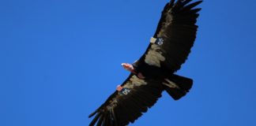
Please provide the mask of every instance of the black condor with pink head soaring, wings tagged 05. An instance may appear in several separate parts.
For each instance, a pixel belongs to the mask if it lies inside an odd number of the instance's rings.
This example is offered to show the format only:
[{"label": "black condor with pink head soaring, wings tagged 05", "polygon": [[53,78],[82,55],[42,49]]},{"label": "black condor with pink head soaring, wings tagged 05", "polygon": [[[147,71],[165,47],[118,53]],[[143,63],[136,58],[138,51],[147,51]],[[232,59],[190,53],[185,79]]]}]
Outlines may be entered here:
[{"label": "black condor with pink head soaring, wings tagged 05", "polygon": [[202,1],[171,0],[162,11],[156,33],[149,46],[132,65],[122,66],[130,76],[116,88],[96,111],[89,124],[93,126],[123,126],[134,123],[152,107],[163,91],[175,100],[182,98],[192,87],[193,80],[175,75],[190,54],[198,26],[198,6]]}]

